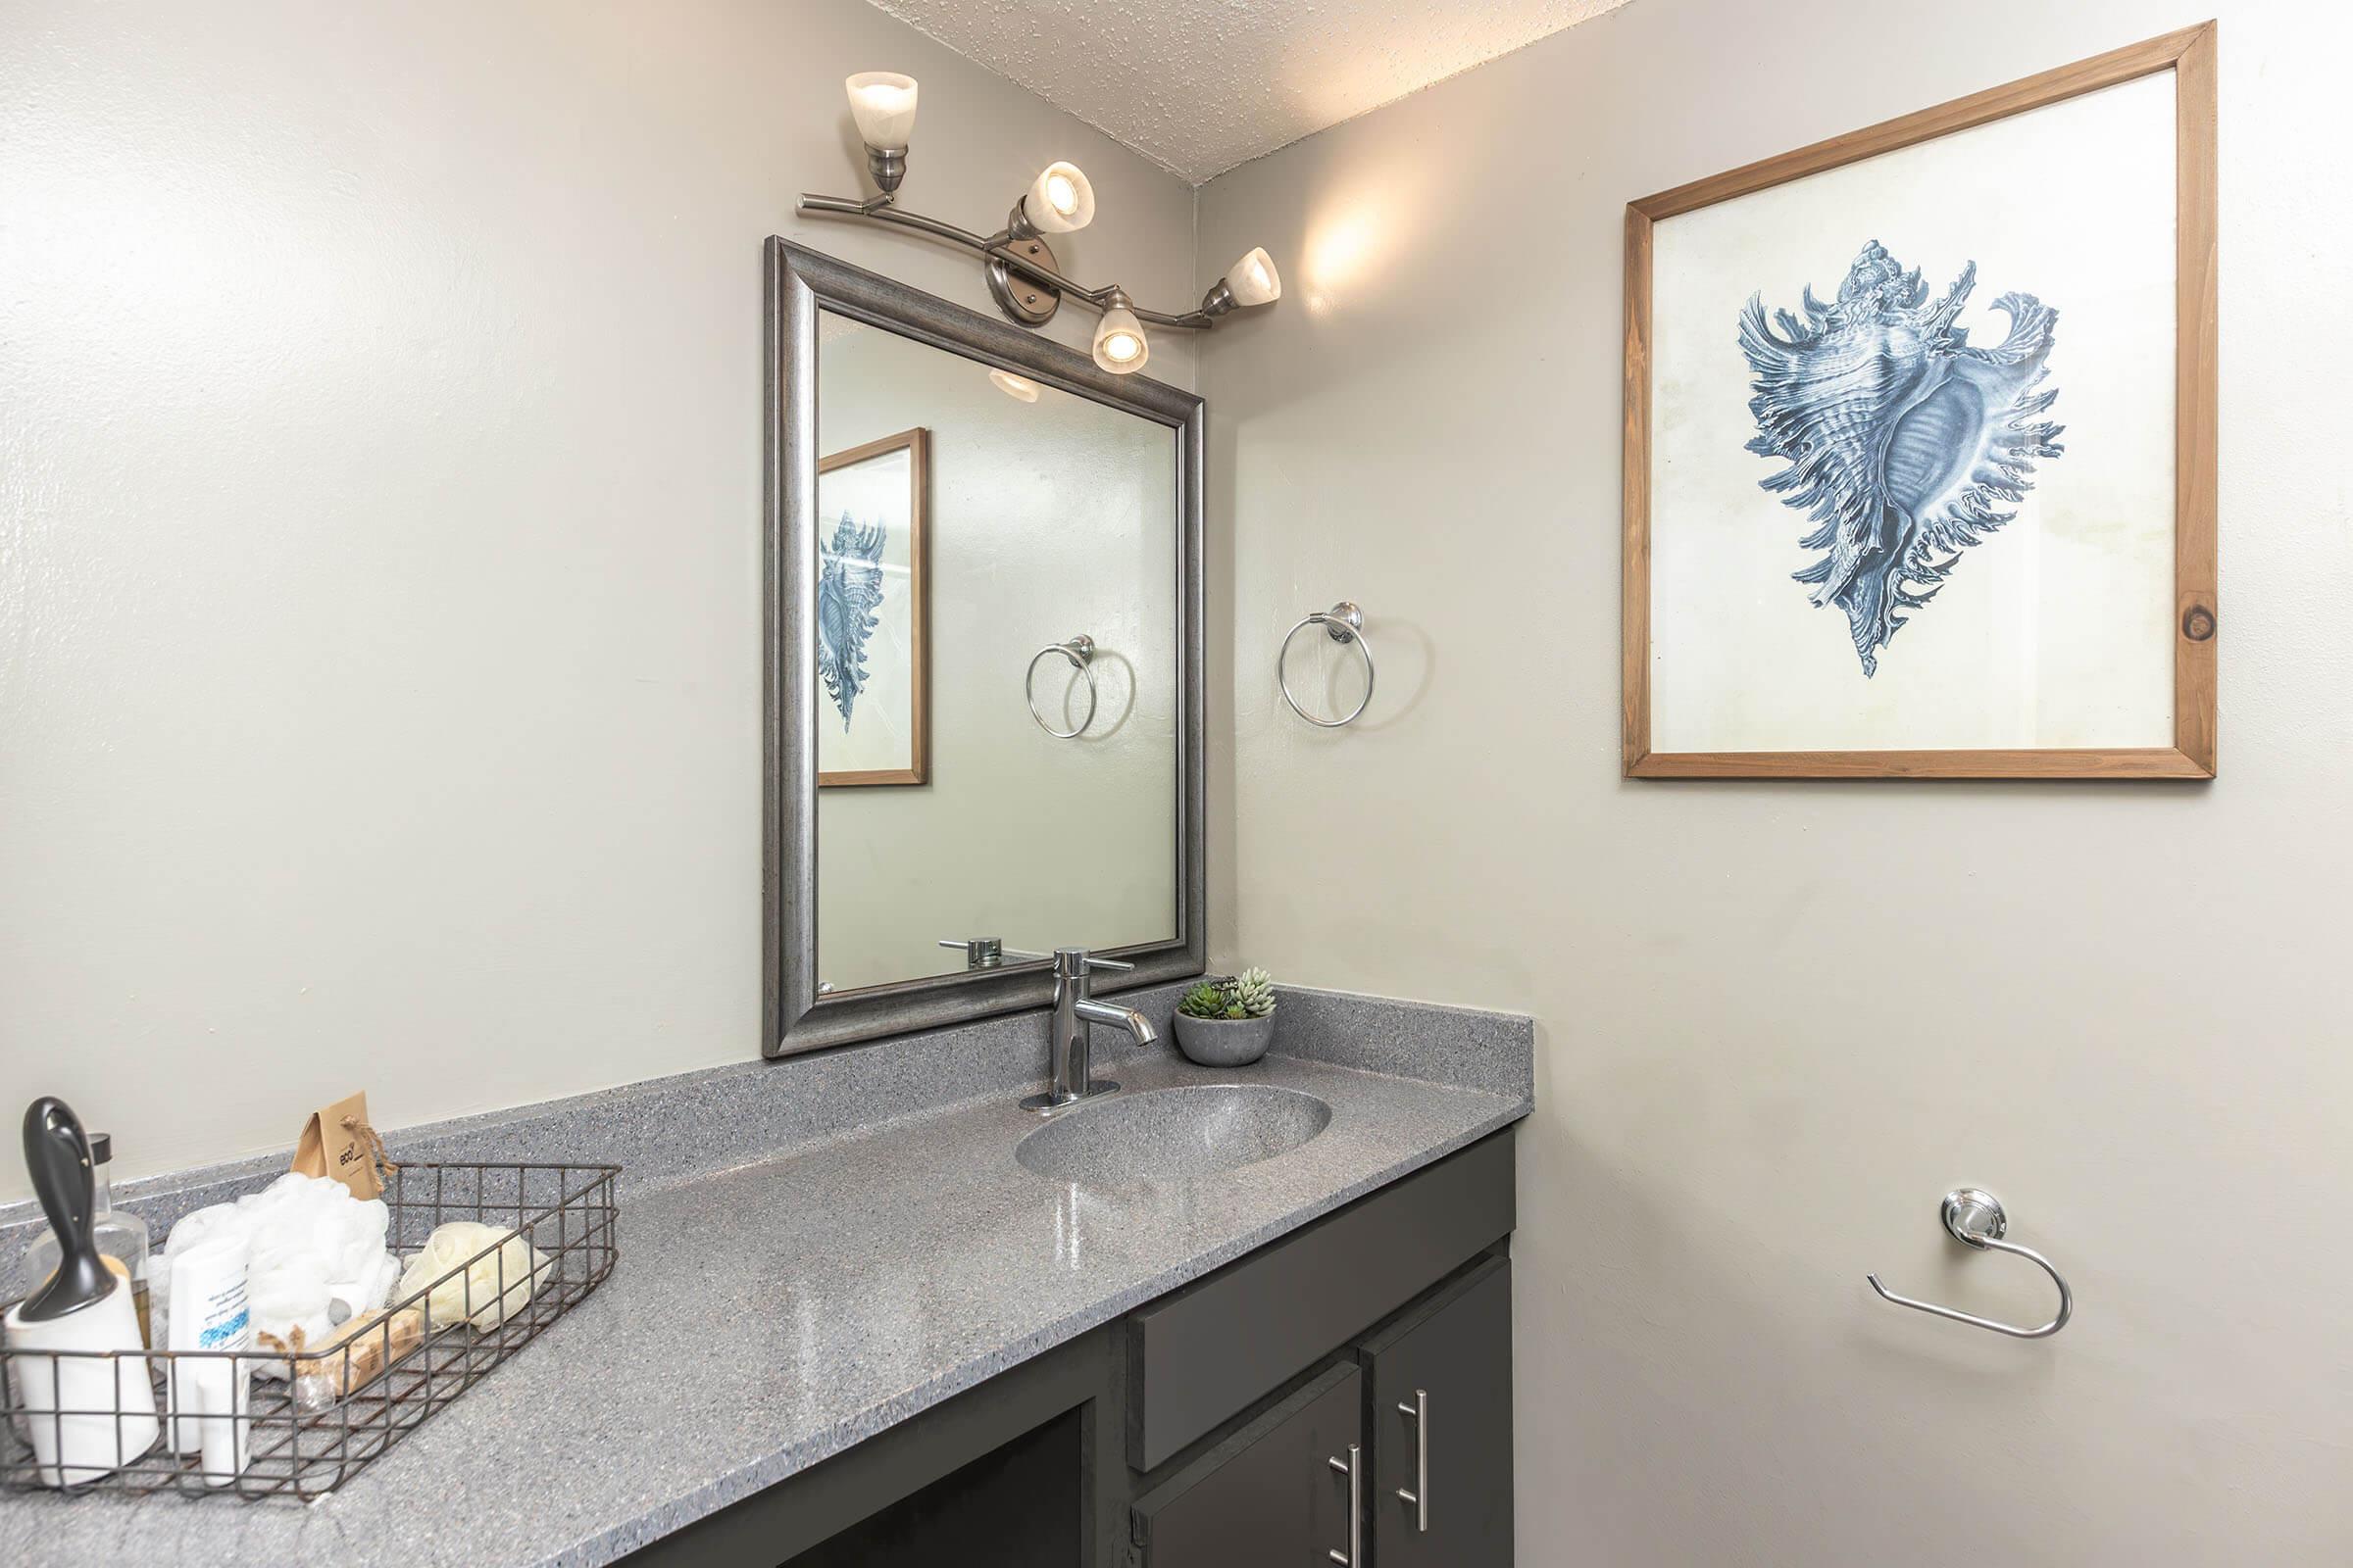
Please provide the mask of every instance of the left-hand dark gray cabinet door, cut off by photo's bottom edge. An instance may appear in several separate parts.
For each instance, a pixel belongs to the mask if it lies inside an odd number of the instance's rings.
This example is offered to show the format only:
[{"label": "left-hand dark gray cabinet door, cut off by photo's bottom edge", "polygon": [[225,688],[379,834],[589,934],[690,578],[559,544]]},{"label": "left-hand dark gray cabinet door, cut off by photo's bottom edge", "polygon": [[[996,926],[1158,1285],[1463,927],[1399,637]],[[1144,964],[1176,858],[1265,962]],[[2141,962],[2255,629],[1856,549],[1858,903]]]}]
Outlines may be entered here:
[{"label": "left-hand dark gray cabinet door, cut off by photo's bottom edge", "polygon": [[[1141,1568],[1351,1563],[1365,1568],[1365,1382],[1341,1363],[1136,1500],[1132,1561]],[[1351,1453],[1355,1450],[1355,1453]],[[1348,1462],[1360,1467],[1351,1488]]]}]

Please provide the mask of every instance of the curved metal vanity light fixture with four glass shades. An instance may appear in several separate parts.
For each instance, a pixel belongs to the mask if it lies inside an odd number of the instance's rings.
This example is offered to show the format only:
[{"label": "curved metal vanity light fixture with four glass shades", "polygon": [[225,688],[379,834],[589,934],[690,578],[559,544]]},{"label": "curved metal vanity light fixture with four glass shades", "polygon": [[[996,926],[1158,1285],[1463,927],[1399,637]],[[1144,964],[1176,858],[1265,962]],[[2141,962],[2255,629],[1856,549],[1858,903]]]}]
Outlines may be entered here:
[{"label": "curved metal vanity light fixture with four glass shades", "polygon": [[899,181],[906,179],[906,148],[915,132],[915,78],[894,71],[861,71],[842,87],[849,94],[849,115],[859,122],[859,139],[866,143],[866,169],[873,174],[875,195],[849,200],[805,193],[800,212],[899,223],[976,249],[988,273],[988,294],[1021,327],[1045,327],[1064,299],[1101,310],[1104,320],[1094,329],[1094,362],[1106,371],[1125,376],[1144,369],[1144,362],[1151,360],[1151,341],[1144,336],[1146,322],[1198,331],[1214,327],[1228,310],[1271,306],[1282,299],[1282,275],[1264,249],[1252,249],[1235,261],[1200,296],[1200,306],[1181,315],[1144,310],[1115,282],[1087,289],[1064,277],[1061,261],[1045,235],[1066,235],[1094,221],[1094,186],[1071,162],[1049,162],[1040,169],[1007,214],[1005,228],[993,235],[976,235],[955,223],[901,212],[896,193]]}]

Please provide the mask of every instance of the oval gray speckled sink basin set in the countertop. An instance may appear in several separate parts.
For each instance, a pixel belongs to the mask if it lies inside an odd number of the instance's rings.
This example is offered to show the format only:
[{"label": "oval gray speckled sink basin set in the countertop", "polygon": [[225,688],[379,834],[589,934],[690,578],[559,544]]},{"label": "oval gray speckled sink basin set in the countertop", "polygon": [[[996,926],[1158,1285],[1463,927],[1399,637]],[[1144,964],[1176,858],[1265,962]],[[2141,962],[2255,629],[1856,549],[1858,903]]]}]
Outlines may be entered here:
[{"label": "oval gray speckled sink basin set in the countertop", "polygon": [[1056,1114],[1014,1145],[1014,1159],[1064,1182],[1212,1175],[1297,1150],[1329,1121],[1332,1107],[1297,1088],[1148,1088]]}]

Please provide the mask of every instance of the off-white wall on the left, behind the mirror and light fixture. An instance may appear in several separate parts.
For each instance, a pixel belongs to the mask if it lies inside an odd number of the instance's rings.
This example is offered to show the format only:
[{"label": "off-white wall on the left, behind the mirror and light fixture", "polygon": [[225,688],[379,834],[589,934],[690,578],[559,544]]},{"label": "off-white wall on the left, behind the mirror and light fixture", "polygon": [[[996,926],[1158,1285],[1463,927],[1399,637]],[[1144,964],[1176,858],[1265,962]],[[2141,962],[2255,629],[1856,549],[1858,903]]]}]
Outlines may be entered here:
[{"label": "off-white wall on the left, behind the mirror and light fixture", "polygon": [[854,0],[0,0],[0,1100],[139,1175],[758,1051],[760,242],[988,308],[793,219],[859,68],[911,207],[1073,158],[1195,296],[1181,181]]}]

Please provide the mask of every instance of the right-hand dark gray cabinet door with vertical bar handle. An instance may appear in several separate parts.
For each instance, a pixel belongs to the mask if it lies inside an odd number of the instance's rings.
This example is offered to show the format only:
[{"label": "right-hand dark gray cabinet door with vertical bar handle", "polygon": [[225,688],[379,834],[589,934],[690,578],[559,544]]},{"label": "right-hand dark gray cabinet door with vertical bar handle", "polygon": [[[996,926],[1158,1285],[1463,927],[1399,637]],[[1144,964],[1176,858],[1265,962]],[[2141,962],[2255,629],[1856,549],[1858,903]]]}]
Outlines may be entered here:
[{"label": "right-hand dark gray cabinet door with vertical bar handle", "polygon": [[1511,1563],[1511,1260],[1494,1258],[1358,1347],[1381,1568]]}]

